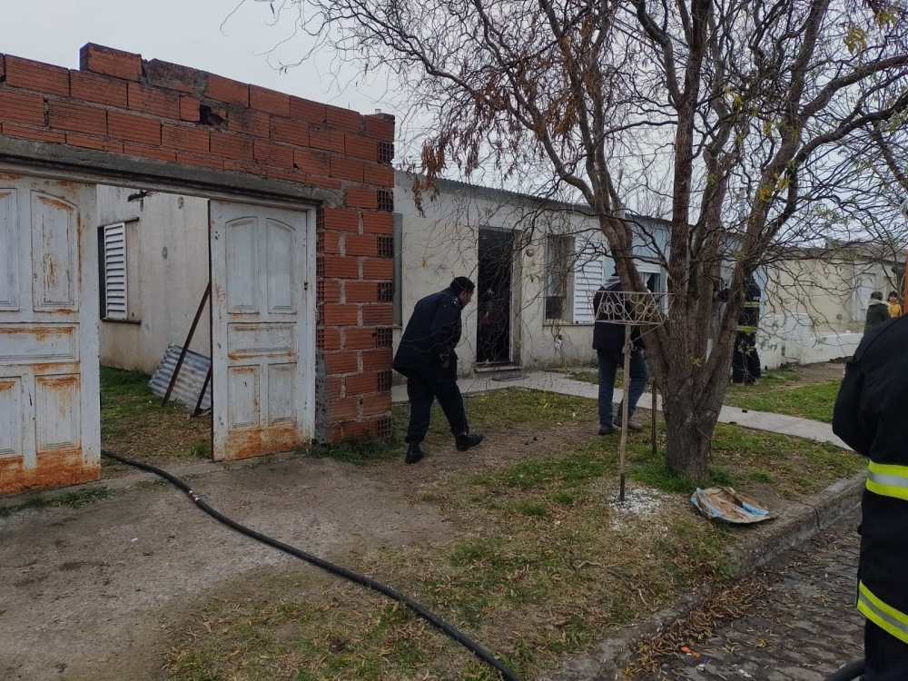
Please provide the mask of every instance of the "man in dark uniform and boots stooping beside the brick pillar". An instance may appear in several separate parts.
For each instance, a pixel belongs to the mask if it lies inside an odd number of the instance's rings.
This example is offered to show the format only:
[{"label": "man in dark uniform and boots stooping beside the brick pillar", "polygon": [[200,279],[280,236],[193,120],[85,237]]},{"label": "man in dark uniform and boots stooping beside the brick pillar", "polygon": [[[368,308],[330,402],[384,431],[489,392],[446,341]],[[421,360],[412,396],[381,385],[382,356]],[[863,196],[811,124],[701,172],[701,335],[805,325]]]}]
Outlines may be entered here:
[{"label": "man in dark uniform and boots stooping beside the brick pillar", "polygon": [[467,277],[456,277],[450,286],[416,303],[394,356],[394,370],[407,377],[410,425],[407,428],[407,463],[425,454],[419,444],[429,432],[432,402],[439,400],[448,419],[457,449],[466,451],[482,441],[470,433],[467,410],[457,384],[460,313],[472,300],[476,286]]}]

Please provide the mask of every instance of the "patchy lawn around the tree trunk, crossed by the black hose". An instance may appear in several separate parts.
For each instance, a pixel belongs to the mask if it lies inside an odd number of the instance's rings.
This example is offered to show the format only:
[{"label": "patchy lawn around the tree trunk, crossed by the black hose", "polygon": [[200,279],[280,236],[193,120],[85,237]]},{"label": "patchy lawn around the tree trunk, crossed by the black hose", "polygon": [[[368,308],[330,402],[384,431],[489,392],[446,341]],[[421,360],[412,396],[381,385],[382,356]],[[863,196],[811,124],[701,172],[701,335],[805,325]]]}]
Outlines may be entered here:
[{"label": "patchy lawn around the tree trunk, crossed by the black hose", "polygon": [[[798,498],[861,468],[856,455],[830,445],[719,426],[711,479],[678,479],[645,432],[629,439],[622,506],[618,438],[595,435],[595,400],[510,389],[468,405],[488,436],[475,454],[452,451],[435,413],[429,458],[402,465],[406,408],[395,410],[389,442],[309,453],[358,462],[364,478],[397,486],[414,512],[441,509],[448,538],[335,558],[415,597],[526,678],[728,577],[724,552],[741,531],[692,512],[696,484]],[[659,432],[664,438],[661,424]],[[171,678],[496,677],[409,610],[361,587],[302,567],[258,585],[252,594],[248,585],[226,586],[195,609],[171,641]]]}]

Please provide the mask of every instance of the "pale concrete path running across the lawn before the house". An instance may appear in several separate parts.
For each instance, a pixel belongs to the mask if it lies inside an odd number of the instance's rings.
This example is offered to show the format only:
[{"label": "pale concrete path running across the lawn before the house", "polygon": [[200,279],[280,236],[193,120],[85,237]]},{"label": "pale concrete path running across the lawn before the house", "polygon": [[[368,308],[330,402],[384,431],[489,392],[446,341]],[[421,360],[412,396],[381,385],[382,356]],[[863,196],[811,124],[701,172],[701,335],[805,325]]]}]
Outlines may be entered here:
[{"label": "pale concrete path running across the lawn before the house", "polygon": [[[495,380],[485,378],[460,380],[460,391],[465,396],[478,395],[489,390],[502,390],[504,388],[528,388],[529,390],[547,390],[558,392],[562,395],[597,399],[597,386],[581,380],[572,380],[567,374],[555,371],[537,371],[524,374],[516,380]],[[394,404],[407,401],[407,387],[394,386],[391,390],[391,400]],[[616,403],[621,400],[621,391],[615,391]],[[653,396],[644,393],[638,406],[648,409],[653,403]],[[656,408],[662,408],[662,401],[656,401]],[[721,423],[731,423],[755,430],[767,430],[783,435],[794,435],[798,438],[813,439],[817,442],[832,442],[838,447],[849,449],[847,445],[835,437],[833,427],[828,423],[821,423],[810,419],[799,419],[795,416],[772,414],[765,411],[742,410],[737,407],[723,407],[719,413]]]}]

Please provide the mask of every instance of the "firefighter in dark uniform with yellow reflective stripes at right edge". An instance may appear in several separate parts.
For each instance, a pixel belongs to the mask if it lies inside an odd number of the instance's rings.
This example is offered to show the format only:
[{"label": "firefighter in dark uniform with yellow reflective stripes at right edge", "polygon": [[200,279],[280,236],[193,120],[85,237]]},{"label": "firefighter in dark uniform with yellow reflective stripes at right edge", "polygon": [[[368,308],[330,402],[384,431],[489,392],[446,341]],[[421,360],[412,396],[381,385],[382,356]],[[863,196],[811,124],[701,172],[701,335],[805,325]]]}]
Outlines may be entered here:
[{"label": "firefighter in dark uniform with yellow reflective stripes at right edge", "polygon": [[908,318],[864,336],[835,400],[833,431],[870,459],[861,502],[857,607],[864,681],[908,679]]}]

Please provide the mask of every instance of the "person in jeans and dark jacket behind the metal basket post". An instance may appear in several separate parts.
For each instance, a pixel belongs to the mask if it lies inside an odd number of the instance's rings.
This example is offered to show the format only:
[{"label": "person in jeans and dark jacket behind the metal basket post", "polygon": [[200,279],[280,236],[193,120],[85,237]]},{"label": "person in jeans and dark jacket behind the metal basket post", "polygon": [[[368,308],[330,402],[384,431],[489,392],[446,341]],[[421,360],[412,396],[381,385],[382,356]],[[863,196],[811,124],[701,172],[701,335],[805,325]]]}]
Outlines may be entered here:
[{"label": "person in jeans and dark jacket behind the metal basket post", "polygon": [[[608,296],[621,291],[621,281],[615,272],[608,278],[593,296],[593,313],[596,324],[593,327],[593,349],[599,360],[599,435],[611,435],[621,428],[622,405],[618,405],[617,417],[614,416],[612,397],[615,394],[615,374],[618,367],[624,366],[625,324],[621,321],[609,321],[616,315],[613,311],[600,310]],[[613,297],[617,301],[617,296]],[[627,395],[627,429],[639,432],[643,429],[633,419],[637,410],[637,401],[646,390],[649,371],[643,356],[643,341],[640,338],[640,327],[631,331],[630,353],[630,386]],[[628,377],[625,377],[628,380]]]}]

